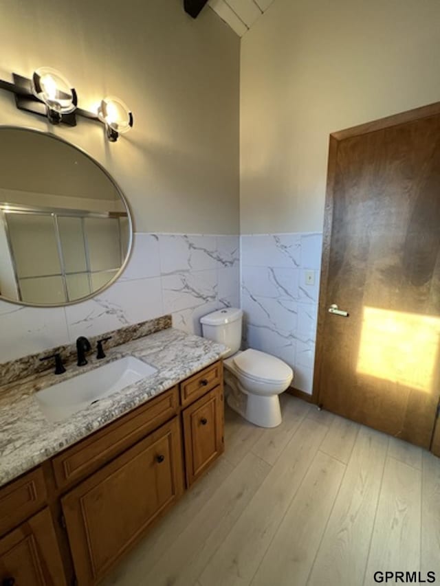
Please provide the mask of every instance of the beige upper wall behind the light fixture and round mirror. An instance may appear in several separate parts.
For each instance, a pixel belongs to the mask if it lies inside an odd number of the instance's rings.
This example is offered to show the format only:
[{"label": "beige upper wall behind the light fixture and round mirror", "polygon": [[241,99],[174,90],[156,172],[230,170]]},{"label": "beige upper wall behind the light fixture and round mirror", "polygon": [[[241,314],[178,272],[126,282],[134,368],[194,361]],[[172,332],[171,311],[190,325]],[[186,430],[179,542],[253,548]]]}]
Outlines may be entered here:
[{"label": "beige upper wall behind the light fixture and round mirror", "polygon": [[78,105],[118,95],[135,126],[115,144],[78,120],[53,127],[0,90],[0,124],[53,131],[85,149],[131,205],[139,232],[237,234],[239,38],[212,10],[182,0],[0,0],[0,77],[56,67]]}]

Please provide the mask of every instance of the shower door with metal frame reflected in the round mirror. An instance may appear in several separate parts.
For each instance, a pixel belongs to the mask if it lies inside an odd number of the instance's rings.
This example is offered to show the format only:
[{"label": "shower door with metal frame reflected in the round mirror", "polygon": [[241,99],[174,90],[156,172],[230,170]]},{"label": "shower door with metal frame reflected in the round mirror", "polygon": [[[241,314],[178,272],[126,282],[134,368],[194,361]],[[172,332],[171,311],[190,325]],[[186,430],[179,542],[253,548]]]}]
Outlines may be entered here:
[{"label": "shower door with metal frame reflected in the round mirror", "polygon": [[63,304],[88,297],[115,278],[128,247],[124,212],[3,206],[3,225],[10,258],[2,263],[8,278],[3,275],[1,294],[22,302]]}]

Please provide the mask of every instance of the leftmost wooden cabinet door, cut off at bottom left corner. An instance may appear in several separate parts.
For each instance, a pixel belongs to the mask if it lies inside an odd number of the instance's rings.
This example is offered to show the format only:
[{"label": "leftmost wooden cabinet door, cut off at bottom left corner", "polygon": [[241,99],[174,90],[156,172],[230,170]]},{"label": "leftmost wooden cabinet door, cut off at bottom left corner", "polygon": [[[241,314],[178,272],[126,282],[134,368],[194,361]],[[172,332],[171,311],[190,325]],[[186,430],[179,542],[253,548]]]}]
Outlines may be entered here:
[{"label": "leftmost wooden cabinet door, cut off at bottom left corner", "polygon": [[0,583],[65,586],[63,564],[48,508],[0,539]]}]

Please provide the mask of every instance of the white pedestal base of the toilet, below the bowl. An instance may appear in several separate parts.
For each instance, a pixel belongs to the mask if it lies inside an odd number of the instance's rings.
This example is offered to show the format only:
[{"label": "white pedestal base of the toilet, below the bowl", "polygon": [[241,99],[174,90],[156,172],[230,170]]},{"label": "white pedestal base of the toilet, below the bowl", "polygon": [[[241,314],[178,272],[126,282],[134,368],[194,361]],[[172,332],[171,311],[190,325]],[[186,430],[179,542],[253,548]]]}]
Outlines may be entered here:
[{"label": "white pedestal base of the toilet, below the bowl", "polygon": [[281,407],[278,395],[252,395],[243,393],[236,388],[236,385],[230,385],[226,403],[236,413],[259,427],[278,427],[281,424]]}]

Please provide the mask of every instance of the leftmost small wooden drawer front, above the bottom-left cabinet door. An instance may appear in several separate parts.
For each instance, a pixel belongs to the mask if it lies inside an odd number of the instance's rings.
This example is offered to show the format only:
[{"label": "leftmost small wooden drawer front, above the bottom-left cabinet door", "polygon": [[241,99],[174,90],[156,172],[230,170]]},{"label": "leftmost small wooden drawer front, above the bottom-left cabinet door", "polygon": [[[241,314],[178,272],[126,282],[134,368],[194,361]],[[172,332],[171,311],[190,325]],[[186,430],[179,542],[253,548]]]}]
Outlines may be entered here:
[{"label": "leftmost small wooden drawer front, above the bottom-left cabinet door", "polygon": [[0,488],[0,534],[25,521],[45,502],[46,486],[41,468]]}]

